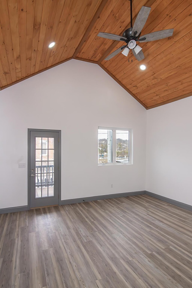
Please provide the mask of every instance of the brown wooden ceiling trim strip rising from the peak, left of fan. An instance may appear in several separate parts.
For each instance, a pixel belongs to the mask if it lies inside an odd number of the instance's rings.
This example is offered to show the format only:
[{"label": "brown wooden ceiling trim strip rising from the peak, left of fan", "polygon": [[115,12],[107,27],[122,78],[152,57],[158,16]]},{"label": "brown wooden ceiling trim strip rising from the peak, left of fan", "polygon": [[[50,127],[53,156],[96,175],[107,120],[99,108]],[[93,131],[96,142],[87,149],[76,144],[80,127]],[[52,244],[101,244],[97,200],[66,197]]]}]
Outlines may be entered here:
[{"label": "brown wooden ceiling trim strip rising from the peak, left of fan", "polygon": [[75,58],[77,56],[77,54],[79,53],[83,43],[85,42],[87,36],[91,32],[91,29],[93,28],[95,22],[97,21],[99,15],[101,14],[101,12],[102,12],[103,8],[105,7],[105,5],[107,4],[107,2],[108,2],[108,0],[102,0],[101,1],[101,4],[99,5],[97,11],[95,12],[95,15],[93,16],[93,18],[92,18],[87,30],[85,31],[85,34],[83,35],[79,45],[77,46],[77,48],[76,48],[76,50],[75,50],[75,52],[73,54],[73,58]]}]

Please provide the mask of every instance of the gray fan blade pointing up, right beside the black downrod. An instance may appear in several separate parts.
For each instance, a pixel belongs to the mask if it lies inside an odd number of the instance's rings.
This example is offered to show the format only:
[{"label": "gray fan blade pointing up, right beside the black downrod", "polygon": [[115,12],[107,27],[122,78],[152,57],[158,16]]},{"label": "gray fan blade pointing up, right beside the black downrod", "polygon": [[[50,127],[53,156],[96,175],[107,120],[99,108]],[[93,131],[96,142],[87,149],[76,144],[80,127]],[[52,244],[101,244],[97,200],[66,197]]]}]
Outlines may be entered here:
[{"label": "gray fan blade pointing up, right beside the black downrod", "polygon": [[[141,7],[141,10],[139,11],[137,18],[135,20],[131,35],[138,36],[140,34],[141,30],[143,29],[147,21],[150,10],[151,10],[151,7],[146,7],[146,6]],[[136,31],[137,33],[134,33]]]}]

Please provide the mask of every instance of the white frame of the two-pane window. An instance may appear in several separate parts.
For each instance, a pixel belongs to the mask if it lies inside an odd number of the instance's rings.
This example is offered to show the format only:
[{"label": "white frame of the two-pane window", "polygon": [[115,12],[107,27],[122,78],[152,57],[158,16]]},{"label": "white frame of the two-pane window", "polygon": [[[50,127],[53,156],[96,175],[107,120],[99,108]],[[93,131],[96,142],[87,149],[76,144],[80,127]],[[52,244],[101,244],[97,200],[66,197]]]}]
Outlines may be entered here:
[{"label": "white frame of the two-pane window", "polygon": [[[111,163],[98,163],[98,166],[103,166],[103,165],[132,165],[133,164],[133,129],[102,127],[102,126],[98,126],[98,129],[112,130],[112,162]],[[129,143],[128,143],[129,162],[128,163],[116,162],[116,149],[117,149],[117,147],[116,147],[116,131],[119,131],[119,130],[120,131],[129,131]]]}]

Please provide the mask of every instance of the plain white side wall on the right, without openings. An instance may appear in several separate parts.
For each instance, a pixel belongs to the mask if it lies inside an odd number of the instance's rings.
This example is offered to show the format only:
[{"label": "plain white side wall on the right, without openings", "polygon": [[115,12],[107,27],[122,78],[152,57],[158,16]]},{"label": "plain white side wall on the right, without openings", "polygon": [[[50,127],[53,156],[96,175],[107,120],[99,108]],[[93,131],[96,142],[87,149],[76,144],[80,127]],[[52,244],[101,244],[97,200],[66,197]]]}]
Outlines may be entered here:
[{"label": "plain white side wall on the right, without openings", "polygon": [[147,111],[146,190],[192,205],[192,97]]}]

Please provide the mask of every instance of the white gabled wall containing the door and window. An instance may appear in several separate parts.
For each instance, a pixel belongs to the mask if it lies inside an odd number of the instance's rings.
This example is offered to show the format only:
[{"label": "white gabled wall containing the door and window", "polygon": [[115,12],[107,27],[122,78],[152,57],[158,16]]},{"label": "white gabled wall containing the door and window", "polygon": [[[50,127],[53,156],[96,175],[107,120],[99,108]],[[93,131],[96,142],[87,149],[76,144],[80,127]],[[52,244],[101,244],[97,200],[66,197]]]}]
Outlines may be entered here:
[{"label": "white gabled wall containing the door and window", "polygon": [[[78,60],[2,90],[0,208],[27,205],[28,128],[61,129],[61,200],[145,190],[146,114],[98,65]],[[133,129],[133,165],[98,166],[98,126]]]}]

